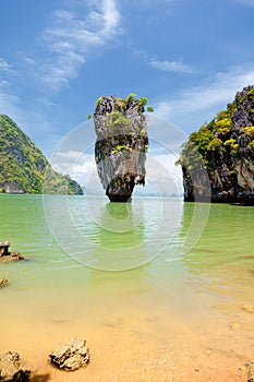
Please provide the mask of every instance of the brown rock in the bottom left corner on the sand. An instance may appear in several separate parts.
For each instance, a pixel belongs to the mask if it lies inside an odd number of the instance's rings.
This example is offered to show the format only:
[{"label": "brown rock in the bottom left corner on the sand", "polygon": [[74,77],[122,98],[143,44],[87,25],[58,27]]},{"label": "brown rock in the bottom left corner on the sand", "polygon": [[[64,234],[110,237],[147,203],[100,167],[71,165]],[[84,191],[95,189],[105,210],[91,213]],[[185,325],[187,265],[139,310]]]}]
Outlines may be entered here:
[{"label": "brown rock in the bottom left corner on the sand", "polygon": [[27,382],[32,371],[20,361],[20,355],[8,351],[0,356],[1,382]]}]

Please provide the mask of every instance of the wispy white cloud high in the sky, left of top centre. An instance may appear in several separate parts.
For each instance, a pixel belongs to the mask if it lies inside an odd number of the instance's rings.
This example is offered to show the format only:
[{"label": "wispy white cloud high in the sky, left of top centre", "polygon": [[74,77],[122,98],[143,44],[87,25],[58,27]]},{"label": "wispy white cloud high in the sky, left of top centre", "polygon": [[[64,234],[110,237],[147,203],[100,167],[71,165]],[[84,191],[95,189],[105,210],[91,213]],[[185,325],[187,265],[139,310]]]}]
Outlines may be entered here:
[{"label": "wispy white cloud high in the sky, left of top centre", "polygon": [[89,4],[94,8],[86,17],[66,10],[55,11],[51,26],[44,32],[51,57],[43,65],[43,79],[55,91],[75,79],[87,57],[120,34],[120,14],[114,0]]}]

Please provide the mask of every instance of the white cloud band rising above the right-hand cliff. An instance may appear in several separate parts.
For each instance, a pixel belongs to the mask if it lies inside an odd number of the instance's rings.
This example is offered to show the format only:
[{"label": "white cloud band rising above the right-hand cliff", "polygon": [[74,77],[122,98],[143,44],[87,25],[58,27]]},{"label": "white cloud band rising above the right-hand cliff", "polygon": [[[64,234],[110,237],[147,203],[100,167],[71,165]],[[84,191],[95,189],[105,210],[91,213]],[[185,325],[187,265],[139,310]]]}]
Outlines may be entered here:
[{"label": "white cloud band rising above the right-hand cliff", "polygon": [[[173,99],[166,99],[155,105],[156,114],[162,118],[185,121],[191,117],[202,123],[232,102],[242,87],[254,84],[254,71],[237,68],[228,73],[217,73],[214,81],[202,86],[194,86],[179,92]],[[183,122],[184,123],[184,122]],[[198,128],[198,126],[196,127]]]}]

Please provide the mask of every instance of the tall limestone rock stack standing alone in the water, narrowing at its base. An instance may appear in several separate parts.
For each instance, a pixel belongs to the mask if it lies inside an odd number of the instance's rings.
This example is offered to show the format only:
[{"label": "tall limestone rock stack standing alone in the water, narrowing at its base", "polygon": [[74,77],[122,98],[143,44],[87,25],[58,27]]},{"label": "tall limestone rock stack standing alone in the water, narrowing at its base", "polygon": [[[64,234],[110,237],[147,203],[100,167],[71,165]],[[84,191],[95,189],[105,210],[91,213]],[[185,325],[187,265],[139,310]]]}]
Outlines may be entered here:
[{"label": "tall limestone rock stack standing alone in the water, narrowing at its base", "polygon": [[145,184],[148,136],[143,111],[143,103],[134,97],[100,97],[97,102],[95,159],[112,202],[126,202],[135,184]]}]

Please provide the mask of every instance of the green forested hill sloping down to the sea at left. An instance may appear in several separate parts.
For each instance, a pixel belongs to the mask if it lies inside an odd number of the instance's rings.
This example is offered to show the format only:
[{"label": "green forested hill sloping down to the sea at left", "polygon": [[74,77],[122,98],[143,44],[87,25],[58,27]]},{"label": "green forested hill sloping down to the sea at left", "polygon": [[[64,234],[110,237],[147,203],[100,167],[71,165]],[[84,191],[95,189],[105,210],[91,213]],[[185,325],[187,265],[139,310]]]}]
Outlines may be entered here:
[{"label": "green forested hill sloping down to the sea at left", "polygon": [[0,115],[0,193],[43,192],[83,194],[75,180],[51,168],[41,151],[10,117]]}]

